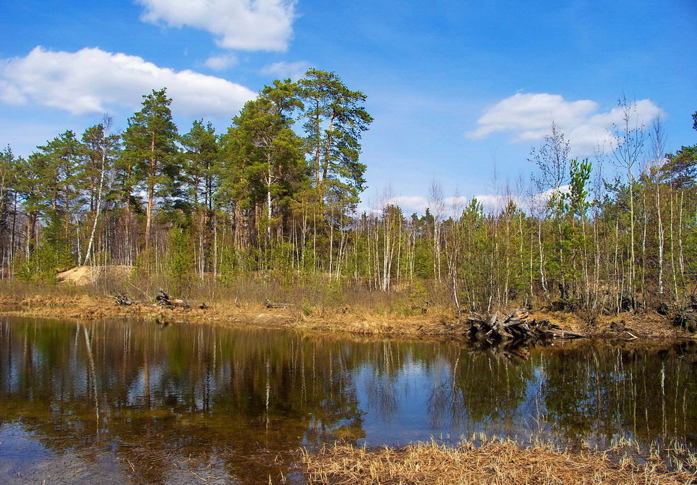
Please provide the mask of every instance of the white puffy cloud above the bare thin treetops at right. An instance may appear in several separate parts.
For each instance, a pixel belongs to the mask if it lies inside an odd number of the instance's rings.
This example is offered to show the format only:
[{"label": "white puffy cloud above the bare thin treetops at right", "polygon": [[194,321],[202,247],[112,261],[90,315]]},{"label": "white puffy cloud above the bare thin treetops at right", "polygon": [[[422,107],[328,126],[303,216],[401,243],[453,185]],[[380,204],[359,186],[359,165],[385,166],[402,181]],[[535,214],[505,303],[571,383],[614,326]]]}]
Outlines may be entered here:
[{"label": "white puffy cloud above the bare thin treetops at right", "polygon": [[[651,100],[629,105],[630,127],[648,125],[663,115]],[[517,93],[489,109],[477,120],[477,129],[469,138],[487,138],[497,132],[512,134],[512,142],[536,142],[549,134],[552,122],[562,129],[575,156],[608,150],[616,143],[613,126],[622,125],[625,110],[621,106],[600,111],[591,100],[567,101],[548,93]]]}]

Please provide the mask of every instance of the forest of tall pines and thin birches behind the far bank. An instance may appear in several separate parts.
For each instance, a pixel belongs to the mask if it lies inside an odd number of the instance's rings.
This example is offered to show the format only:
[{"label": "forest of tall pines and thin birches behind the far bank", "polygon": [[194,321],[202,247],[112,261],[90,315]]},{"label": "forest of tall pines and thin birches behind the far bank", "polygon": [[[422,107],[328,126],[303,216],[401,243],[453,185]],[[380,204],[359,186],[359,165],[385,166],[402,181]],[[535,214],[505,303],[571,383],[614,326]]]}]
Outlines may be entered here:
[{"label": "forest of tall pines and thin birches behind the far bank", "polygon": [[494,184],[496,204],[450,205],[434,182],[425,214],[404,214],[388,197],[356,210],[365,101],[311,69],[263,88],[224,133],[206,120],[177,127],[162,88],[123,133],[105,116],[26,158],[8,146],[2,276],[50,284],[72,267],[123,265],[138,287],[183,295],[244,281],[281,297],[398,295],[406,313],[424,301],[547,305],[588,321],[694,303],[697,146],[666,153],[660,122],[638,124],[632,102],[620,100],[613,145],[593,159],[572,158],[552,123],[530,180]]}]

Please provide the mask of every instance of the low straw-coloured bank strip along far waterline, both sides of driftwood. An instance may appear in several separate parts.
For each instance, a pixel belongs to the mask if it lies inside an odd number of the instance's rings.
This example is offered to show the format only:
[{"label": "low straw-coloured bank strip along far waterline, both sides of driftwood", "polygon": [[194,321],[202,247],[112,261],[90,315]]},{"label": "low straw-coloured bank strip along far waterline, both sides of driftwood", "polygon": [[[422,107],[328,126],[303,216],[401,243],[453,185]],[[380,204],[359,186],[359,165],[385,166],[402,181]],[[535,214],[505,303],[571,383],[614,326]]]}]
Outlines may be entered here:
[{"label": "low straw-coloured bank strip along far waterline, both sides of driftwood", "polygon": [[[305,331],[353,333],[359,335],[463,335],[468,324],[454,315],[370,315],[342,308],[336,312],[322,310],[308,315],[301,308],[266,308],[263,303],[250,305],[236,302],[192,302],[192,308],[163,308],[153,303],[116,305],[106,296],[0,296],[0,314],[26,317],[53,317],[80,320],[102,318],[156,319],[167,323],[213,324],[292,328]],[[634,340],[648,338],[697,338],[676,327],[668,317],[657,313],[624,314],[602,317],[593,324],[567,312],[534,312],[533,317],[549,319],[564,331],[581,332],[589,337]]]}]

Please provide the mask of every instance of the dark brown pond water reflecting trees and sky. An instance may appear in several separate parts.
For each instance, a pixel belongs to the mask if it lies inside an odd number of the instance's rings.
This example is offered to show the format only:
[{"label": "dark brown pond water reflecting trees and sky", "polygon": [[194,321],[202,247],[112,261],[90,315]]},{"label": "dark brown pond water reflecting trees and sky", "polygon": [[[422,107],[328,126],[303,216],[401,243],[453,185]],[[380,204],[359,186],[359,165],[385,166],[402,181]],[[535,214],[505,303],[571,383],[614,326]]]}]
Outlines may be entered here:
[{"label": "dark brown pond water reflecting trees and sky", "polygon": [[302,482],[300,447],[697,450],[697,345],[480,344],[0,317],[0,482]]}]

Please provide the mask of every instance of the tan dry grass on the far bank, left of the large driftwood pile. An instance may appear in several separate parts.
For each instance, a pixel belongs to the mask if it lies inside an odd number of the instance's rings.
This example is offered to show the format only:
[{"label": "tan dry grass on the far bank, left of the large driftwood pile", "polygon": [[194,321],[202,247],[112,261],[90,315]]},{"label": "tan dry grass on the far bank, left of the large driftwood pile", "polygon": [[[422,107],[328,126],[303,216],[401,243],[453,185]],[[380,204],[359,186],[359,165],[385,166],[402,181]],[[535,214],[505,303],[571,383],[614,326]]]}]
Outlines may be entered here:
[{"label": "tan dry grass on the far bank, left of the large driftwood pile", "polygon": [[[73,272],[81,277],[90,276],[84,275],[84,271]],[[68,283],[59,285],[1,280],[0,312],[72,319],[157,318],[169,322],[280,326],[356,335],[447,335],[454,332],[448,323],[453,317],[447,315],[441,305],[429,306],[424,315],[420,308],[411,308],[413,305],[406,293],[376,292],[360,285],[337,285],[319,280],[294,285],[273,278],[243,277],[225,284],[201,281],[186,292],[171,293],[189,299],[192,308],[167,309],[153,305],[158,288],[153,281],[97,278],[88,285],[76,285],[72,279],[67,280]],[[105,295],[118,292],[142,302],[129,307],[116,306],[114,300]],[[266,299],[290,303],[291,307],[268,309],[263,304]],[[207,308],[199,309],[204,302]]]}]

